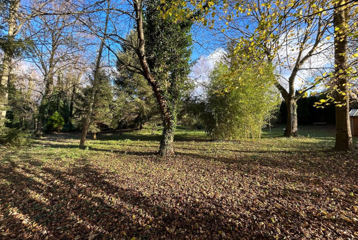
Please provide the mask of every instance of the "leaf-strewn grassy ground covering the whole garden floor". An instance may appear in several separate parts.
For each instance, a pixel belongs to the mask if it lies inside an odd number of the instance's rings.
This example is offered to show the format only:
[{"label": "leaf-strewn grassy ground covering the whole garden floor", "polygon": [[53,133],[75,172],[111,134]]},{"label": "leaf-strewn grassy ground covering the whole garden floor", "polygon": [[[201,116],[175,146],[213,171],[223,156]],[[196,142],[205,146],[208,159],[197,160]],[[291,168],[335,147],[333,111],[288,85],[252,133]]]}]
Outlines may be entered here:
[{"label": "leaf-strewn grassy ground covering the whole garden floor", "polygon": [[179,128],[164,158],[146,130],[5,151],[0,239],[357,239],[357,153],[332,151],[333,127],[282,128],[246,142]]}]

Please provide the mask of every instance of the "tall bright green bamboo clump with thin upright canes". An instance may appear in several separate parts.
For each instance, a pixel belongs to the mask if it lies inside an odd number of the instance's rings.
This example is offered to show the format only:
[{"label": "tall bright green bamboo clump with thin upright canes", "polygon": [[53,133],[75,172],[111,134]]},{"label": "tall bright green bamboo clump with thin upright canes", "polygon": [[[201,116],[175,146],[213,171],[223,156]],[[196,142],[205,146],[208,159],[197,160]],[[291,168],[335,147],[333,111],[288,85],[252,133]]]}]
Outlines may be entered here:
[{"label": "tall bright green bamboo clump with thin upright canes", "polygon": [[[267,65],[260,72],[257,69],[253,67],[241,72],[240,77],[231,77],[231,69],[227,65],[215,65],[209,75],[210,89],[204,118],[206,132],[211,138],[237,140],[261,137],[261,128],[267,124],[280,98],[273,85],[276,80],[273,68]],[[225,92],[228,84],[234,89]],[[223,89],[223,93],[211,89]]]}]

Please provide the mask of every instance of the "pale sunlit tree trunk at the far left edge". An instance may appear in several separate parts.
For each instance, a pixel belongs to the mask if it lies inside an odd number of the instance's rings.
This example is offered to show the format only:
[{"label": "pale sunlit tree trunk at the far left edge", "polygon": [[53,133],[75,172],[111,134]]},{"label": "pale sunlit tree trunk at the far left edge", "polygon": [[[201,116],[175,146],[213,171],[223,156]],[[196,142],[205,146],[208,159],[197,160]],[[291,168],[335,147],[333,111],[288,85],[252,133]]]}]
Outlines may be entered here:
[{"label": "pale sunlit tree trunk at the far left edge", "polygon": [[1,72],[1,96],[0,96],[0,126],[4,126],[5,116],[6,116],[6,105],[8,102],[8,82],[10,75],[10,65],[11,60],[14,54],[14,40],[15,40],[15,28],[16,28],[16,15],[18,14],[20,6],[20,0],[10,1],[9,9],[9,18],[8,20],[8,35],[7,35],[7,45],[4,49],[4,59],[3,59],[3,71]]}]

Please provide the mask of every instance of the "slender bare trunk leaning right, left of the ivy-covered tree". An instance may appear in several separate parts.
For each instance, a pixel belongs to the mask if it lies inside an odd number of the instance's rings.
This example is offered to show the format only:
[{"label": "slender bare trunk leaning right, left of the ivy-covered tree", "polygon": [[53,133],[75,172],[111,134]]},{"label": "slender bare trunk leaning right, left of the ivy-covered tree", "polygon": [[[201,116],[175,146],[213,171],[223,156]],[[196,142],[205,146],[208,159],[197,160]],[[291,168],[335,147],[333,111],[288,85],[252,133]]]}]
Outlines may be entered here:
[{"label": "slender bare trunk leaning right, left of the ivy-covered tree", "polygon": [[[108,2],[108,4],[109,4],[109,2]],[[105,25],[105,30],[104,30],[104,34],[103,34],[103,39],[101,39],[100,49],[98,50],[98,57],[97,57],[97,62],[96,62],[95,76],[93,78],[92,93],[91,93],[91,98],[89,99],[87,116],[86,116],[86,120],[85,120],[85,122],[83,124],[82,134],[81,134],[81,141],[79,142],[79,146],[84,146],[84,142],[86,142],[87,130],[88,130],[88,126],[89,126],[89,121],[91,119],[91,114],[92,114],[93,101],[95,99],[95,93],[96,93],[96,89],[97,89],[98,72],[100,70],[102,51],[103,51],[104,41],[105,41],[105,37],[106,37],[106,33],[107,33],[107,25],[108,25],[108,13],[107,13],[107,16],[106,16],[106,25]]]}]

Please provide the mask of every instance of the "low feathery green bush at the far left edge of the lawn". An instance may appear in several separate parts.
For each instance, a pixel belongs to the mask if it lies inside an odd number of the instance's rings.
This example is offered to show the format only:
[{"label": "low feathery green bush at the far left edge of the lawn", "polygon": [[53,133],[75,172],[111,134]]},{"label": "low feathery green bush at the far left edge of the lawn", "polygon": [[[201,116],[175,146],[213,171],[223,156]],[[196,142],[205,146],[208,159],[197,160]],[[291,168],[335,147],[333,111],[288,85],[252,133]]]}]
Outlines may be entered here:
[{"label": "low feathery green bush at the far left edge of the lawn", "polygon": [[30,143],[29,137],[29,131],[23,131],[22,128],[0,128],[0,145],[8,148],[21,149],[27,147]]}]

